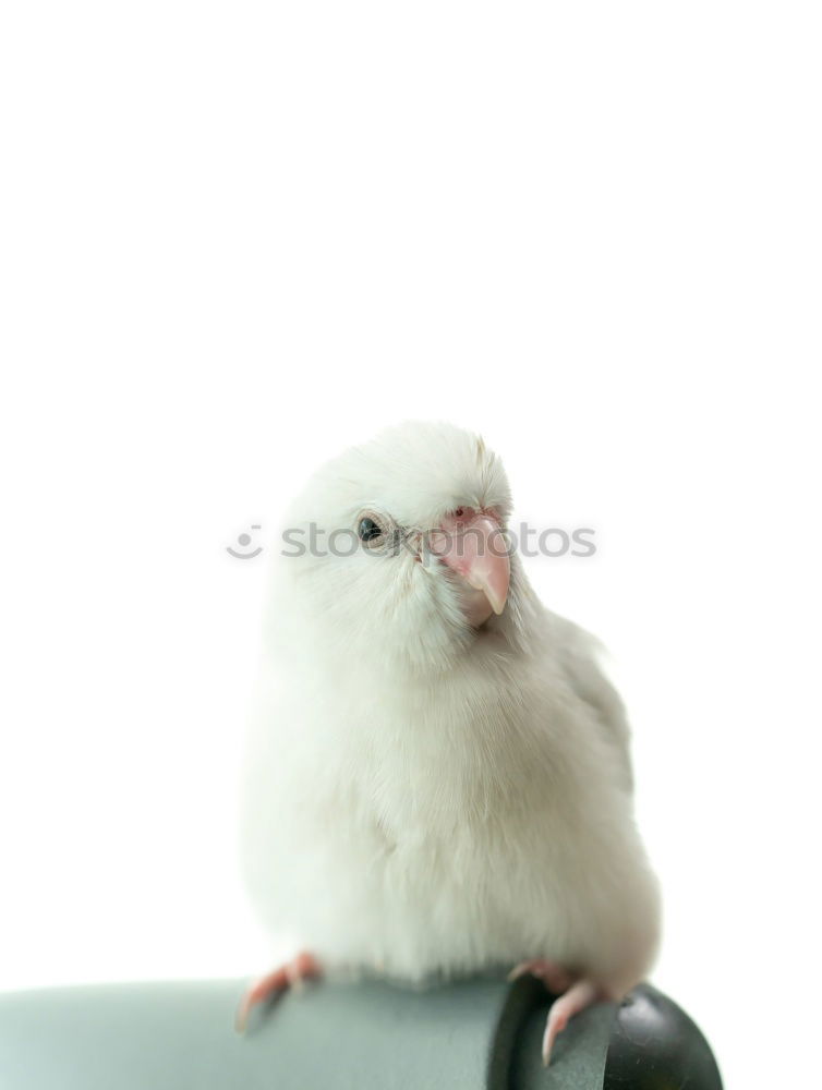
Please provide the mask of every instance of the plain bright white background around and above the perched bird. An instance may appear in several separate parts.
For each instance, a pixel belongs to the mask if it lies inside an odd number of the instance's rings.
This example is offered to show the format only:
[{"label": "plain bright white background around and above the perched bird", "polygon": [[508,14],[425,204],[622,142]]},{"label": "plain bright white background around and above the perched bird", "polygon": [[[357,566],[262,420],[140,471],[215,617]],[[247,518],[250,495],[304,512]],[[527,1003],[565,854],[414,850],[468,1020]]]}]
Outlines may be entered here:
[{"label": "plain bright white background around and above the perched bird", "polygon": [[443,417],[520,516],[596,530],[530,574],[631,708],[655,982],[728,1087],[807,1083],[814,7],[5,5],[1,986],[266,968],[233,856],[266,531]]}]

